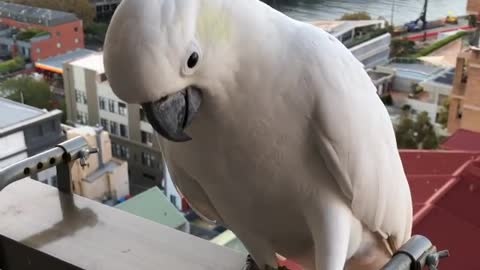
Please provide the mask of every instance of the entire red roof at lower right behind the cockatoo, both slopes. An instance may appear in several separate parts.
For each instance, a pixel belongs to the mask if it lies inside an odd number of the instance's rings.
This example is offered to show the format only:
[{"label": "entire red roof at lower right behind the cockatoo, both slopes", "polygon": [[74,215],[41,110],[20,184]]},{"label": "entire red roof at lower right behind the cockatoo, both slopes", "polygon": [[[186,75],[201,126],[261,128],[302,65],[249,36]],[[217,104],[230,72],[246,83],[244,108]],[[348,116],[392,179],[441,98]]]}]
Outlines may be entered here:
[{"label": "entire red roof at lower right behind the cockatoo, both slopes", "polygon": [[[451,257],[441,262],[441,269],[479,269],[480,148],[400,150],[400,157],[412,192],[413,233],[428,237],[439,250],[449,249]],[[288,260],[281,265],[302,269]]]}]

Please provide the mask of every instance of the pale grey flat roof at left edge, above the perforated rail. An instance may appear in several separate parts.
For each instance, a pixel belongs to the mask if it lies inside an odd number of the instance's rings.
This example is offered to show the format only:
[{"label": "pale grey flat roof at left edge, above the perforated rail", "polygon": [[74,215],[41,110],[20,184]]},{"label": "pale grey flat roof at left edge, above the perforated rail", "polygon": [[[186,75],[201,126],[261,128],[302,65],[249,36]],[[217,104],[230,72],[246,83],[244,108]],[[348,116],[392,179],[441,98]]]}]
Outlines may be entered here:
[{"label": "pale grey flat roof at left edge, above the perforated rail", "polygon": [[45,113],[35,107],[0,98],[0,131]]}]

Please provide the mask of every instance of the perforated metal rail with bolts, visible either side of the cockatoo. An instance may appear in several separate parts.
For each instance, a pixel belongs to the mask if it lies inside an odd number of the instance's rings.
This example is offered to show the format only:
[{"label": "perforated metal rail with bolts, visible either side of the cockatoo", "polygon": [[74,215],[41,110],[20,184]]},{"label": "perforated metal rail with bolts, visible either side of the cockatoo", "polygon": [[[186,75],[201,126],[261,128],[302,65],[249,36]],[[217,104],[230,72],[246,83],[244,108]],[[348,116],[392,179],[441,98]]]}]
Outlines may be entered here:
[{"label": "perforated metal rail with bolts, visible either side of the cockatoo", "polygon": [[[63,193],[71,193],[72,162],[80,160],[80,164],[85,166],[89,155],[96,152],[96,149],[88,146],[83,137],[65,141],[55,148],[0,170],[0,191],[17,180],[56,166],[58,189]],[[448,251],[437,252],[429,239],[415,235],[381,270],[422,270],[425,267],[437,270],[440,259],[448,256]]]}]

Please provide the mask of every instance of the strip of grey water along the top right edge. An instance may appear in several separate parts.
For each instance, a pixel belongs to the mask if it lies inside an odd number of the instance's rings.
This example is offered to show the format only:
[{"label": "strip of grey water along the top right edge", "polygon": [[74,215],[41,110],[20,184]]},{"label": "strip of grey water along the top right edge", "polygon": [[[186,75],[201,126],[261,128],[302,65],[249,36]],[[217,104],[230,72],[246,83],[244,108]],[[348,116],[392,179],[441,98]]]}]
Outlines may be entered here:
[{"label": "strip of grey water along the top right edge", "polygon": [[[390,21],[394,5],[396,25],[420,16],[423,0],[265,0],[272,7],[301,21],[335,20],[345,13],[368,12],[372,18],[384,17]],[[466,14],[467,0],[429,0],[427,19]]]}]

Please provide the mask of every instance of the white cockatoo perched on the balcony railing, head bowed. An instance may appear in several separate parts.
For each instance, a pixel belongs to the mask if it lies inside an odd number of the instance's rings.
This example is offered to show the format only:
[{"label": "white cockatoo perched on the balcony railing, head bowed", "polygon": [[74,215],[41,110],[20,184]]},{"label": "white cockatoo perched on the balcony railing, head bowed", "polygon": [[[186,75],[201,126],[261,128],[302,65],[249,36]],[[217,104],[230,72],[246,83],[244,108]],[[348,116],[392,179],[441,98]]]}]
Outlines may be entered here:
[{"label": "white cockatoo perched on the balcony railing, head bowed", "polygon": [[180,192],[261,268],[379,269],[410,238],[389,115],[329,33],[258,0],[123,0],[104,64]]}]

